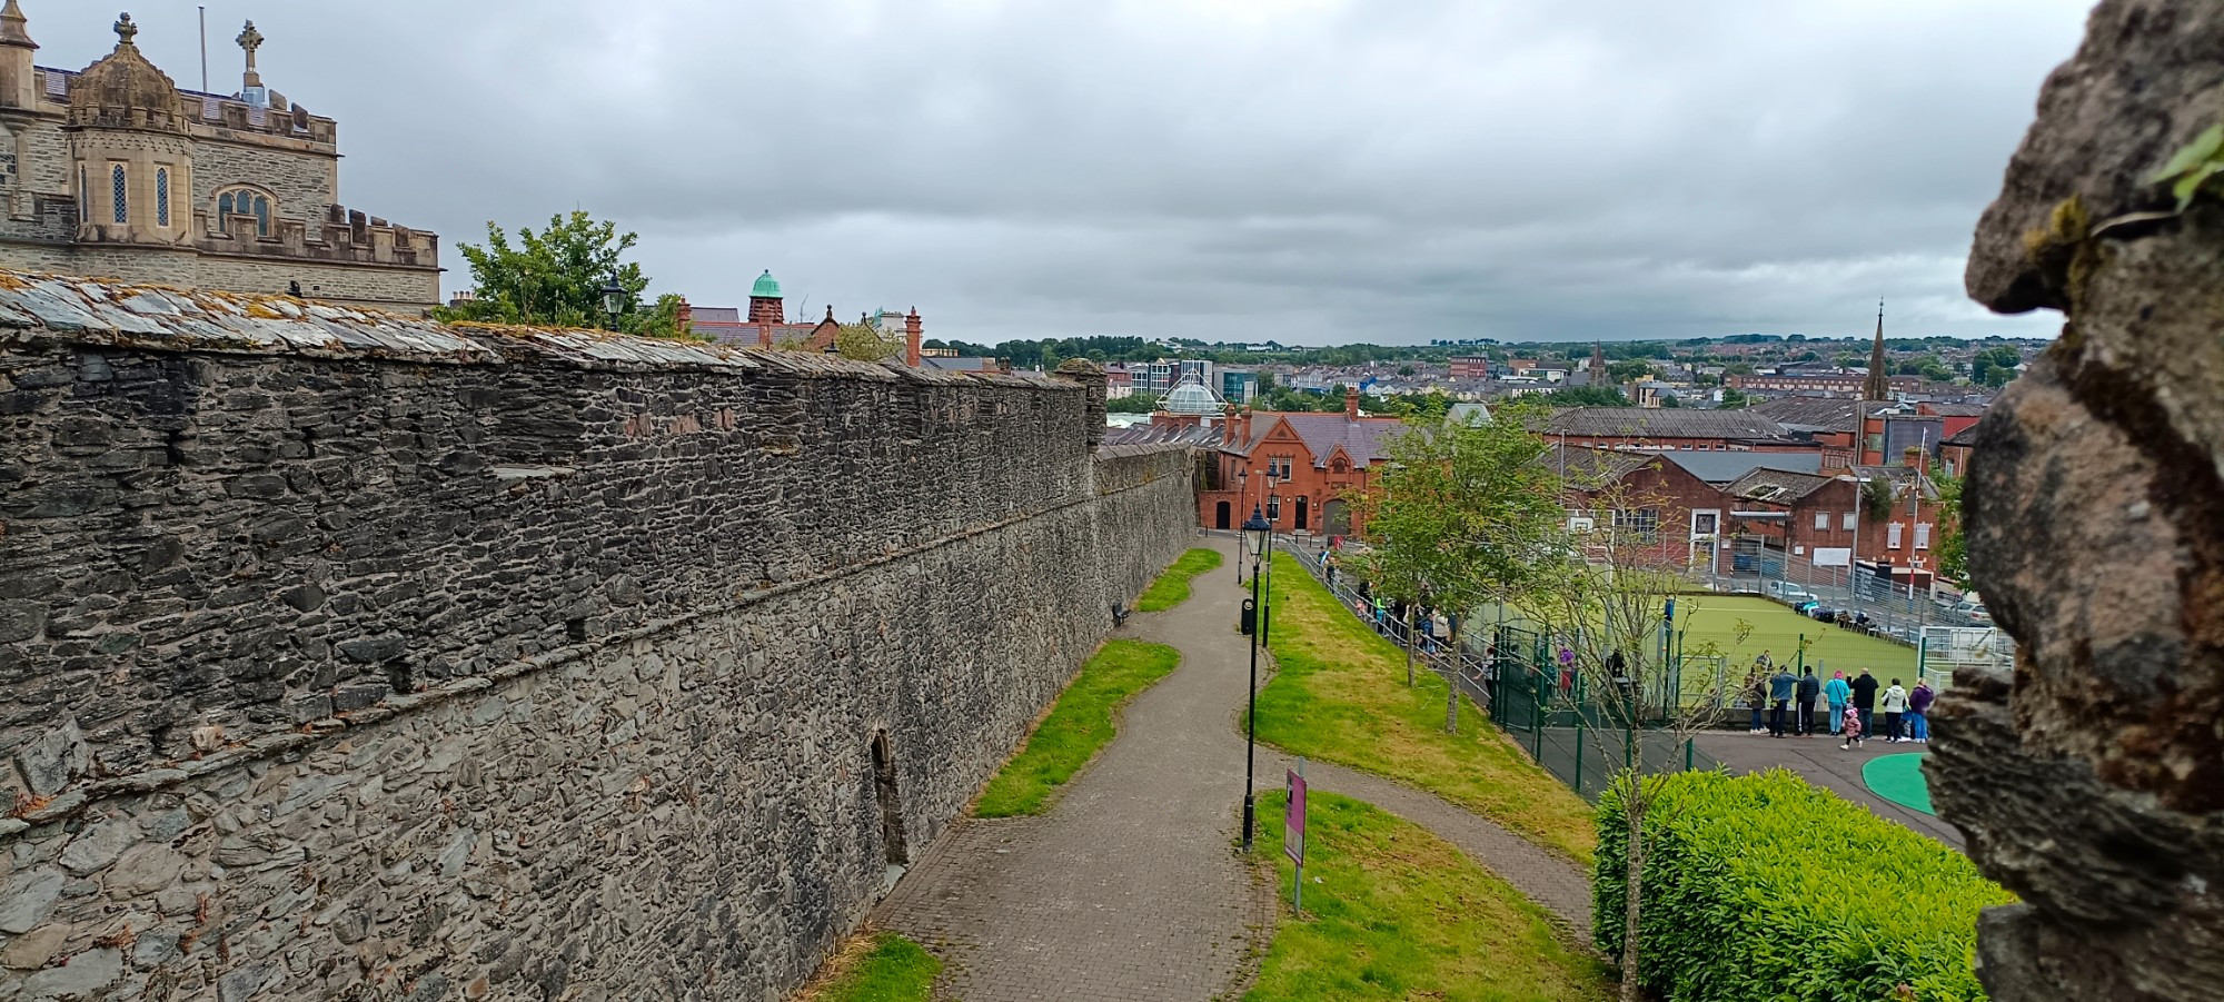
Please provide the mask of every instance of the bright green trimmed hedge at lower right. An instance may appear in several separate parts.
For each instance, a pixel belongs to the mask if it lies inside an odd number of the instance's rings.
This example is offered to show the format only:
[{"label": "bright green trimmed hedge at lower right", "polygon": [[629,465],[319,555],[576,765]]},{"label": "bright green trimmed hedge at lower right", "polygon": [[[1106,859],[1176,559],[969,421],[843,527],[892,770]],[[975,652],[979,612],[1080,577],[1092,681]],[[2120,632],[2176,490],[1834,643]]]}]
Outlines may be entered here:
[{"label": "bright green trimmed hedge at lower right", "polygon": [[[1610,957],[1628,895],[1621,826],[1608,793],[1592,929]],[[2015,897],[1953,848],[1784,770],[1668,777],[1646,828],[1639,971],[1664,1000],[1984,1000],[1977,911]]]}]

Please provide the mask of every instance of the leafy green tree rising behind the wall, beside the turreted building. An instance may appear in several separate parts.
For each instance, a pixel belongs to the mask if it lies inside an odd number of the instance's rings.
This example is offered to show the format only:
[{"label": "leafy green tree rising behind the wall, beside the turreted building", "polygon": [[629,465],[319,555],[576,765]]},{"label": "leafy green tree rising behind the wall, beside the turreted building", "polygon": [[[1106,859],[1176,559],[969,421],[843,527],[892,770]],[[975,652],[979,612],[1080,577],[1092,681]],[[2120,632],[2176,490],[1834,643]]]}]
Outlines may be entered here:
[{"label": "leafy green tree rising behind the wall, beside the turreted building", "polygon": [[[483,247],[460,245],[471,265],[478,296],[456,307],[434,307],[447,323],[525,323],[536,327],[594,327],[656,338],[694,338],[681,330],[678,296],[658,296],[643,307],[649,276],[625,261],[638,243],[616,223],[598,223],[585,212],[549,216],[547,229],[518,227],[516,245],[500,225],[487,223]],[[603,303],[603,285],[616,281],[618,312]]]}]

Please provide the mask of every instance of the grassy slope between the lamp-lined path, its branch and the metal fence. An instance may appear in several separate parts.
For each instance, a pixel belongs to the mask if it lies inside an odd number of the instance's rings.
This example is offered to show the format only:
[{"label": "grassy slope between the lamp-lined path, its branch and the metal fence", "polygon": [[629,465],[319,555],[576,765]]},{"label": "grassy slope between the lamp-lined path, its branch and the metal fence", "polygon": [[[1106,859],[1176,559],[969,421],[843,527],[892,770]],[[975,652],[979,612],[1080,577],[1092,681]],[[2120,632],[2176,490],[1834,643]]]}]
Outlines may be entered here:
[{"label": "grassy slope between the lamp-lined path, its branch and the metal fence", "polygon": [[1359,621],[1288,554],[1274,554],[1270,641],[1281,670],[1259,692],[1259,739],[1403,779],[1590,864],[1590,804],[1528,759],[1475,704],[1443,730],[1443,679]]}]

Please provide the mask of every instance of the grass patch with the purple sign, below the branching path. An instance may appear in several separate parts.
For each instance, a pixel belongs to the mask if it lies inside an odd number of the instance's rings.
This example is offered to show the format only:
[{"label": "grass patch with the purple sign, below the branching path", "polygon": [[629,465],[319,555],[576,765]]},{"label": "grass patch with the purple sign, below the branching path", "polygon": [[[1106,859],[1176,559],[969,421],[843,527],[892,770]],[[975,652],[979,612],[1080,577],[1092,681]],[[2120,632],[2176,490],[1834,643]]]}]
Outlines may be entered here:
[{"label": "grass patch with the purple sign, below the branching path", "polygon": [[1290,911],[1283,795],[1263,797],[1257,853],[1274,859],[1274,944],[1252,1002],[1604,1000],[1604,969],[1552,935],[1543,908],[1421,826],[1312,793],[1305,915]]}]

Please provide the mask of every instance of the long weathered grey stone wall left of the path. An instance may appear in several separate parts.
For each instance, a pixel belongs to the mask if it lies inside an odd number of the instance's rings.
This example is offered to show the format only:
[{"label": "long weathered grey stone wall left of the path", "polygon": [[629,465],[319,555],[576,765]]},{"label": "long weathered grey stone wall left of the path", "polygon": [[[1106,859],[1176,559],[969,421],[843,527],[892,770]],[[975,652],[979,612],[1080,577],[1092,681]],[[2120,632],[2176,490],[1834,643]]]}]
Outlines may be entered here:
[{"label": "long weathered grey stone wall left of the path", "polygon": [[0,289],[0,1000],[781,998],[1185,546],[1085,396]]}]

